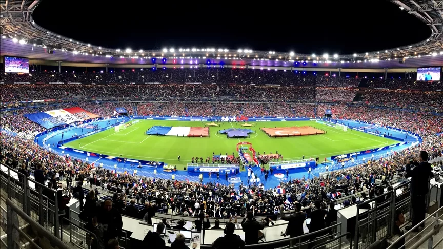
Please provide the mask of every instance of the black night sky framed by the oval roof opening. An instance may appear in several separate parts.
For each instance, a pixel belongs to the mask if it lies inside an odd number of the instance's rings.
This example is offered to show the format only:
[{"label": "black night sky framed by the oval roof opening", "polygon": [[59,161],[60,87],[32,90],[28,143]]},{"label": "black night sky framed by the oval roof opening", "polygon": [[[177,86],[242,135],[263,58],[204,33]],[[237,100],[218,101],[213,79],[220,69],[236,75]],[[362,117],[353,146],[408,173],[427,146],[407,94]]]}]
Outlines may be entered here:
[{"label": "black night sky framed by the oval roof opening", "polygon": [[85,43],[133,50],[195,46],[349,54],[409,45],[431,34],[388,1],[298,2],[44,0],[33,18]]}]

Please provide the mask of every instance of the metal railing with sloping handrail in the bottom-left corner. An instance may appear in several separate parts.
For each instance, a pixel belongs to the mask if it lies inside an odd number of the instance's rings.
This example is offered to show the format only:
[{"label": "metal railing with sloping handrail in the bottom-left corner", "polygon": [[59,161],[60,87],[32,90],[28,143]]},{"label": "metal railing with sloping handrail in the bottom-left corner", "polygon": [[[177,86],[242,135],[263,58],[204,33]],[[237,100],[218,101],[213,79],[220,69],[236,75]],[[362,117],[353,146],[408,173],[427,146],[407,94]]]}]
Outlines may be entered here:
[{"label": "metal railing with sloping handrail in the bottom-left corner", "polygon": [[[55,237],[52,233],[46,230],[43,226],[38,224],[35,220],[29,217],[25,212],[14,204],[9,198],[6,199],[7,217],[6,217],[6,233],[8,234],[6,248],[17,249],[23,248],[21,240],[30,243],[34,248],[42,249],[52,248],[69,249],[69,247],[62,242],[62,240]],[[18,217],[24,220],[29,226],[38,234],[38,244],[34,239],[30,238],[19,227]],[[5,243],[2,241],[2,245]]]}]

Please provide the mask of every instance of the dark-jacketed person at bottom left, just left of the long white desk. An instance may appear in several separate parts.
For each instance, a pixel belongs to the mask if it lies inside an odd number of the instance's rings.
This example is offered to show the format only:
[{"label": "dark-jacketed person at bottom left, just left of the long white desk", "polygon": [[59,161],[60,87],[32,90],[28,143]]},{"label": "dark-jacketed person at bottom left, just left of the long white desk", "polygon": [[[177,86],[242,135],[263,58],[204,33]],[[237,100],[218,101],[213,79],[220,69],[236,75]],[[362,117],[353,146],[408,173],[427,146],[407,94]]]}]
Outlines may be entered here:
[{"label": "dark-jacketed person at bottom left, just left of the long white desk", "polygon": [[112,206],[111,199],[105,200],[103,205],[99,207],[97,219],[98,223],[104,226],[105,234],[103,238],[105,243],[119,236],[123,227],[122,215]]}]

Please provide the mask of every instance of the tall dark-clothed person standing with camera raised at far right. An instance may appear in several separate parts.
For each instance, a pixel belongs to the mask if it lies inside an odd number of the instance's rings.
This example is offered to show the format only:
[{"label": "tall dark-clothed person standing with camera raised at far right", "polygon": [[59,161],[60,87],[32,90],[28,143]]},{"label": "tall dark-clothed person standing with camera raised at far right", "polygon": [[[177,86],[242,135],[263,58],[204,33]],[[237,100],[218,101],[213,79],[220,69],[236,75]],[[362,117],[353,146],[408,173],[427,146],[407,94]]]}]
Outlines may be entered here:
[{"label": "tall dark-clothed person standing with camera raised at far right", "polygon": [[[429,191],[430,177],[433,177],[431,164],[428,162],[428,153],[420,151],[418,161],[410,158],[406,164],[406,176],[411,177],[411,203],[412,203],[412,225],[406,226],[406,230],[412,229],[425,219],[426,194]],[[425,224],[421,224],[425,227]],[[417,228],[414,232],[419,232]]]}]

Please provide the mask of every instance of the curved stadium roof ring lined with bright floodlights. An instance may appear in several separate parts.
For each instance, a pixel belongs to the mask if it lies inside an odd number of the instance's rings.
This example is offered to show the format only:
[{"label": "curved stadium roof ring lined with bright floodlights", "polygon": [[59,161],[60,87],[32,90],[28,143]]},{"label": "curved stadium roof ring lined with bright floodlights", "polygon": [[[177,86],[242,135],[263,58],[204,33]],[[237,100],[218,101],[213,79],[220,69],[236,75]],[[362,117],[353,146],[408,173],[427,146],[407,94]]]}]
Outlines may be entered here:
[{"label": "curved stadium roof ring lined with bright floodlights", "polygon": [[[2,34],[2,55],[23,56],[31,59],[63,60],[77,62],[96,62],[119,64],[131,63],[134,59],[213,59],[229,61],[305,61],[309,63],[343,63],[384,60],[403,60],[423,56],[443,55],[443,0],[394,0],[392,3],[398,5],[402,10],[408,11],[426,23],[432,31],[431,36],[420,43],[390,48],[381,51],[372,51],[358,54],[299,54],[293,51],[253,51],[250,48],[227,49],[227,48],[164,48],[161,50],[139,50],[132,51],[127,48],[105,48],[99,45],[87,44],[69,37],[58,35],[38,26],[32,19],[32,12],[41,0],[1,0],[0,1],[0,33]],[[413,35],[413,30],[411,31]],[[7,40],[12,41],[7,42]],[[19,47],[22,46],[22,47]],[[27,46],[28,49],[24,49]],[[42,53],[37,48],[43,48]],[[23,48],[23,49],[22,49]],[[61,56],[61,53],[78,55]],[[54,54],[58,53],[58,56]],[[83,56],[81,56],[83,55]],[[98,59],[97,57],[101,57]],[[438,56],[440,57],[440,56]],[[124,60],[111,60],[122,58]],[[433,61],[435,59],[431,59]],[[168,61],[168,63],[170,60]],[[251,63],[248,63],[252,65]],[[256,63],[260,65],[263,63]],[[268,63],[269,64],[269,63]]]}]

